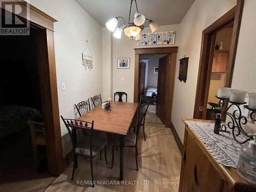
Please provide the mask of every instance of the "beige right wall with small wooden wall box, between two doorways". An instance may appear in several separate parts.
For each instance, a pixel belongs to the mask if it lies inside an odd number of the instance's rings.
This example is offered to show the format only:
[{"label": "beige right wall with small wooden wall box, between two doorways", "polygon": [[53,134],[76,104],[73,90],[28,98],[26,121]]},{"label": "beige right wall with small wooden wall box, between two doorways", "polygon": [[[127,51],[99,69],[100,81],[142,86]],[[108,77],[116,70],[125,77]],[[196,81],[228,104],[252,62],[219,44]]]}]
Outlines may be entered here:
[{"label": "beige right wall with small wooden wall box, between two doorways", "polygon": [[[189,57],[186,83],[176,79],[172,123],[183,141],[181,118],[193,117],[197,88],[202,31],[236,5],[236,0],[196,0],[180,23],[180,46],[177,58]],[[178,77],[178,61],[176,76]]]}]

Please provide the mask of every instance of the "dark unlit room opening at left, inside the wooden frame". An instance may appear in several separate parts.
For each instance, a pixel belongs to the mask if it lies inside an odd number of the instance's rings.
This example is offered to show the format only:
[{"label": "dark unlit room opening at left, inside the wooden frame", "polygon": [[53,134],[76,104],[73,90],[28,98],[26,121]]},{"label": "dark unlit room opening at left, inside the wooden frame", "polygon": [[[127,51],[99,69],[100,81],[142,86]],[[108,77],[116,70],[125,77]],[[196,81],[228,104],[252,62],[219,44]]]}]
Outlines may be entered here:
[{"label": "dark unlit room opening at left, inside the wooden frame", "polygon": [[[31,28],[29,36],[0,36],[0,188],[43,178],[50,184],[54,179],[48,174],[36,33]],[[27,187],[32,185],[27,182]]]}]

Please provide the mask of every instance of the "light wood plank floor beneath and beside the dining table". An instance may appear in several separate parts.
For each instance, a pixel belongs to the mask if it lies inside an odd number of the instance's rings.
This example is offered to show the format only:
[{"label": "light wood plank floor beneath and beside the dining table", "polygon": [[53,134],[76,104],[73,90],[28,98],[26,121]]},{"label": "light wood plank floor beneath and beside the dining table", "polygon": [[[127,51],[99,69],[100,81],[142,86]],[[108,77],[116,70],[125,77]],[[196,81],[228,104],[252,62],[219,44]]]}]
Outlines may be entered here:
[{"label": "light wood plank floor beneath and beside the dining table", "polygon": [[[77,182],[91,181],[90,160],[79,158],[78,168],[71,181],[72,166],[66,169],[54,182],[46,189],[50,191],[178,191],[181,167],[181,154],[175,142],[172,131],[161,123],[155,113],[147,113],[146,116],[146,141],[143,139],[142,129],[139,137],[139,171],[136,171],[135,150],[124,149],[124,181],[133,184],[122,184],[119,181],[119,151],[115,151],[115,161],[113,169],[111,164],[111,148],[108,147],[109,165],[105,164],[104,158],[94,159],[94,177],[96,185],[94,188],[89,185],[78,185]],[[143,185],[143,181],[150,184]],[[120,182],[120,184],[99,185],[98,181]],[[136,183],[138,181],[138,184]],[[158,183],[157,182],[169,182]],[[80,182],[80,183],[81,183]],[[173,183],[172,183],[173,182]]]}]

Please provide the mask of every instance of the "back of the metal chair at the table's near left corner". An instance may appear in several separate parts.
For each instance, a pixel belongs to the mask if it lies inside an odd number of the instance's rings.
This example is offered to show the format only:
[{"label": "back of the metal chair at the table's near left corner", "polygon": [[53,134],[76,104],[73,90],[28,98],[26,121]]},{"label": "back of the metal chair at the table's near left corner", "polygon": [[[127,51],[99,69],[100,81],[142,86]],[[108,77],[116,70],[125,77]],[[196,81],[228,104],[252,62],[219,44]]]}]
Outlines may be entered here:
[{"label": "back of the metal chair at the table's near left corner", "polygon": [[[94,138],[91,135],[93,135],[94,121],[84,122],[77,119],[65,119],[62,115],[60,115],[60,117],[68,129],[72,141],[73,152],[77,155],[83,156],[86,154],[88,149],[90,149],[90,156],[92,156]],[[88,134],[87,132],[90,133]]]}]

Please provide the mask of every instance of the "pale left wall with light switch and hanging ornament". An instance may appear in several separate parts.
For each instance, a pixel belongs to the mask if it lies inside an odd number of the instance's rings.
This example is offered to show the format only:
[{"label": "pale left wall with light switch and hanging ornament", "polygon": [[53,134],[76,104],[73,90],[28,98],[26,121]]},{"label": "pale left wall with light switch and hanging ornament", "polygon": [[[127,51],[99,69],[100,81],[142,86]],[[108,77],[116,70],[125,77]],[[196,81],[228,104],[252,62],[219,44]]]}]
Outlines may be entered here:
[{"label": "pale left wall with light switch and hanging ornament", "polygon": [[[74,118],[74,103],[102,93],[102,28],[73,0],[31,0],[30,3],[58,21],[54,24],[59,113]],[[81,52],[89,40],[92,71],[84,70]],[[61,91],[61,82],[66,90]],[[63,156],[72,145],[61,122]]]}]

